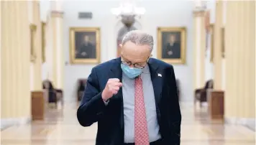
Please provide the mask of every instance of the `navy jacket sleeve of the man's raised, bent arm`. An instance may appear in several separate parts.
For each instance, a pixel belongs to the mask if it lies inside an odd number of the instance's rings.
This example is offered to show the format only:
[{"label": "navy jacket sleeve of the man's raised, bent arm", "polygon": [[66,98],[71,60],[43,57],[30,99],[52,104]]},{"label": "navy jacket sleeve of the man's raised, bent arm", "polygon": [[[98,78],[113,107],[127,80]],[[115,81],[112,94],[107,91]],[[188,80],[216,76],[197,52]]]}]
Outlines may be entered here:
[{"label": "navy jacket sleeve of the man's raised, bent arm", "polygon": [[91,124],[99,120],[99,117],[104,112],[106,106],[101,98],[101,93],[96,70],[93,68],[88,76],[81,105],[77,111],[77,118],[81,126],[91,126]]}]

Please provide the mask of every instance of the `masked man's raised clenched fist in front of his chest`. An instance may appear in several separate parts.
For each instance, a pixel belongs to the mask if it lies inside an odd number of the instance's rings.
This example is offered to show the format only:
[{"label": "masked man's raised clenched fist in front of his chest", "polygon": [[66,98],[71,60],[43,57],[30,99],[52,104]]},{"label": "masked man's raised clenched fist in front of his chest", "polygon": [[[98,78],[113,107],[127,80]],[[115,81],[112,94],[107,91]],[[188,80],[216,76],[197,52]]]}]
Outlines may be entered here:
[{"label": "masked man's raised clenched fist in front of his chest", "polygon": [[110,78],[102,92],[102,99],[106,101],[113,95],[116,95],[120,87],[122,87],[122,83],[118,78]]}]

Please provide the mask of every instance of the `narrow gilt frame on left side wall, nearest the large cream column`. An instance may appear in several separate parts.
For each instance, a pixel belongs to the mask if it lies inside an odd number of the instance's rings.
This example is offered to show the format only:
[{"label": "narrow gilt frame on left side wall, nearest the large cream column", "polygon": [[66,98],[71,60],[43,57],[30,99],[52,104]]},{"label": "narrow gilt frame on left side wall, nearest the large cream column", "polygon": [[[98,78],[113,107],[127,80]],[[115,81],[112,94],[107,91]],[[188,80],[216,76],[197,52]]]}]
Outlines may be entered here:
[{"label": "narrow gilt frame on left side wall, nearest the large cream column", "polygon": [[35,62],[37,55],[35,52],[35,33],[37,32],[37,26],[35,24],[29,25],[30,29],[30,62]]}]

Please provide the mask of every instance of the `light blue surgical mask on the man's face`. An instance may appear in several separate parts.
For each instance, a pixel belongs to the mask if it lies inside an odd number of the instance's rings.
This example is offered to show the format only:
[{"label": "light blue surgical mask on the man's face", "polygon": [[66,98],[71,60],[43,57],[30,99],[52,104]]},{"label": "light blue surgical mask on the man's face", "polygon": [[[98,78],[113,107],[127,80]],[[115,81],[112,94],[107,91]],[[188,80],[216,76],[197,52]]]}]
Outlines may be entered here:
[{"label": "light blue surgical mask on the man's face", "polygon": [[124,74],[127,75],[128,78],[136,78],[142,73],[142,69],[129,67],[128,65],[124,65],[124,64],[121,64],[121,68]]}]

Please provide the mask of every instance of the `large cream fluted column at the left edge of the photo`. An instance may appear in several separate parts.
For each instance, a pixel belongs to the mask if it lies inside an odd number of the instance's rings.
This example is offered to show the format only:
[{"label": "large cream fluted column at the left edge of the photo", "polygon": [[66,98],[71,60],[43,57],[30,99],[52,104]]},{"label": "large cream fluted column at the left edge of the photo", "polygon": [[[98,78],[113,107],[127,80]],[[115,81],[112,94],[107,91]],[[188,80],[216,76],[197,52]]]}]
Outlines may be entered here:
[{"label": "large cream fluted column at the left edge of the photo", "polygon": [[30,118],[27,1],[1,1],[1,126]]}]

